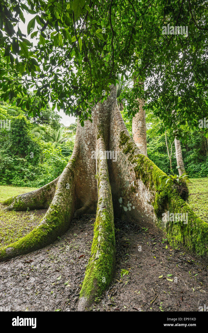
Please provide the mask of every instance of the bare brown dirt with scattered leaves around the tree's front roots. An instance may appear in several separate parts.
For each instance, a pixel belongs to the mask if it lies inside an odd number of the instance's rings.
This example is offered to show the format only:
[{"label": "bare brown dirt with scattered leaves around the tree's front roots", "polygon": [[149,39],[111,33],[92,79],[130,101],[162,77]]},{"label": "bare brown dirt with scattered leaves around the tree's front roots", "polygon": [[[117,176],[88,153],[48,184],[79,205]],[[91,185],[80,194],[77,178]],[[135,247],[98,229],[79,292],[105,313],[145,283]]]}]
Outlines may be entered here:
[{"label": "bare brown dirt with scattered leaves around the tree's front roots", "polygon": [[[0,309],[76,311],[94,221],[73,219],[51,245],[0,262]],[[199,311],[208,304],[208,267],[199,260],[132,221],[115,219],[115,235],[115,277],[88,311]]]}]

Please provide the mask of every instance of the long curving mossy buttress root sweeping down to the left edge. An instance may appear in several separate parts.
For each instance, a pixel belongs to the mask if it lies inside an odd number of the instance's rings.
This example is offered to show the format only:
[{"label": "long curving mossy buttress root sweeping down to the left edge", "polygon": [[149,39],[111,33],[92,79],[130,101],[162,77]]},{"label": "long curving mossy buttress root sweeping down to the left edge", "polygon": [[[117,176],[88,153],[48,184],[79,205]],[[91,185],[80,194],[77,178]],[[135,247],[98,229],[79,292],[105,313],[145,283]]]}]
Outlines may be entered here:
[{"label": "long curving mossy buttress root sweeping down to the left edge", "polygon": [[60,175],[53,200],[39,225],[25,237],[1,248],[0,261],[48,245],[68,229],[75,201],[73,162],[71,159]]}]

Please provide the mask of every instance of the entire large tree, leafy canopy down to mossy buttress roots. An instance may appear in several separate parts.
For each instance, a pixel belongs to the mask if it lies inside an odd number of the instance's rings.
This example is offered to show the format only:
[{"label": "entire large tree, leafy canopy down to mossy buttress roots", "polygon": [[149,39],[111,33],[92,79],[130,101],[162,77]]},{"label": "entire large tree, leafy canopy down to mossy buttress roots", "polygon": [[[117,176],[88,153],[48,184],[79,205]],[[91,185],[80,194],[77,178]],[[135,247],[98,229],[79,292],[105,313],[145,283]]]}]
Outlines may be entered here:
[{"label": "entire large tree, leafy canopy down to mossy buttress roots", "polygon": [[[197,82],[196,90],[202,92],[206,69],[201,65],[200,73],[195,73],[193,48],[198,56],[204,57],[207,6],[201,2],[195,8],[189,1],[27,2],[28,6],[16,0],[10,4],[3,2],[1,6],[0,28],[4,34],[0,45],[7,60],[6,66],[2,62],[0,72],[5,77],[1,82],[1,98],[15,99],[17,105],[32,115],[40,113],[50,97],[54,107],[63,108],[67,114],[78,114],[79,122],[73,154],[62,174],[40,189],[4,202],[5,209],[48,209],[29,234],[0,250],[0,260],[49,244],[67,230],[74,215],[96,212],[91,256],[78,306],[84,310],[95,295],[107,288],[114,273],[114,214],[157,227],[172,246],[183,245],[190,252],[207,257],[207,223],[181,198],[177,185],[165,183],[161,177],[164,172],[142,155],[130,138],[117,105],[115,88],[118,74],[123,79],[128,73],[134,82],[138,78],[138,85],[131,90],[132,100],[143,97],[147,100],[143,95],[151,91],[152,83],[144,93],[139,82],[161,73],[162,90],[154,86],[155,96],[152,91],[149,97],[155,101],[160,97],[164,105],[170,103],[172,97],[164,96],[163,87],[171,84],[180,71],[184,72],[179,60],[185,47],[193,70],[188,79],[187,73],[183,75],[182,83],[185,80],[188,84],[191,77],[190,85]],[[20,19],[24,22],[23,11],[35,15],[27,33],[38,36],[37,46],[32,46],[19,28],[17,33],[14,30]],[[39,30],[33,32],[35,21]],[[188,25],[189,38],[162,35],[162,26],[169,22]],[[199,35],[194,40],[196,29]],[[164,54],[166,50],[168,56]],[[142,68],[138,68],[139,55],[144,63]],[[34,88],[32,98],[27,94],[29,88]],[[205,103],[204,96],[197,99]],[[184,120],[182,105],[178,104],[179,122]],[[185,107],[190,104],[185,103]],[[166,111],[169,113],[168,108]],[[196,114],[199,108],[190,107],[190,111]],[[188,213],[188,223],[169,222],[167,216],[164,218],[167,211]]]}]

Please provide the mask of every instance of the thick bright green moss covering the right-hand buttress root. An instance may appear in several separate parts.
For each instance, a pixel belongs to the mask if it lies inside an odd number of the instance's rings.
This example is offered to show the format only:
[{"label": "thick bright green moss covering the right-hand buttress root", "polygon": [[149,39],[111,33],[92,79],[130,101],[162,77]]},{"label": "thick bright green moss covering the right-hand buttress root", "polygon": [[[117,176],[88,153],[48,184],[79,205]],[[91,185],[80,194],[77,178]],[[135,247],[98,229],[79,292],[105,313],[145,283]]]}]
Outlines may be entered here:
[{"label": "thick bright green moss covering the right-hand buttress root", "polygon": [[[129,154],[128,160],[134,164],[136,179],[141,179],[150,193],[153,194],[154,201],[151,203],[157,217],[156,226],[167,237],[169,244],[174,248],[183,246],[190,253],[207,258],[208,223],[196,216],[171,182],[165,184],[165,177],[160,177],[165,175],[162,170],[146,156],[134,155],[135,144],[124,131],[120,134],[120,148],[123,149],[124,154]],[[155,195],[159,184],[163,184],[162,190]],[[184,224],[183,221],[165,223],[162,221],[162,214],[168,210],[174,214],[188,213],[188,223]]]}]

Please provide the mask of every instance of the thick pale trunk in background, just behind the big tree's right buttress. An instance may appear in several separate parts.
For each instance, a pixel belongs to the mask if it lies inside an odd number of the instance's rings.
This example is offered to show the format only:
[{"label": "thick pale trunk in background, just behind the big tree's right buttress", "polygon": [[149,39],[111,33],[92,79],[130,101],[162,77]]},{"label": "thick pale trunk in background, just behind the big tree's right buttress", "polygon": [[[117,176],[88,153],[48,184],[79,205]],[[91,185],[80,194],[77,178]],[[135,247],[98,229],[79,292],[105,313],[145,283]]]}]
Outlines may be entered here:
[{"label": "thick pale trunk in background, just behind the big tree's right buttress", "polygon": [[141,153],[147,156],[146,117],[144,101],[139,100],[139,111],[132,119],[132,137]]}]

